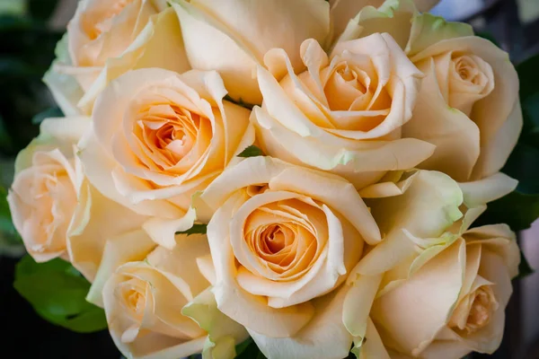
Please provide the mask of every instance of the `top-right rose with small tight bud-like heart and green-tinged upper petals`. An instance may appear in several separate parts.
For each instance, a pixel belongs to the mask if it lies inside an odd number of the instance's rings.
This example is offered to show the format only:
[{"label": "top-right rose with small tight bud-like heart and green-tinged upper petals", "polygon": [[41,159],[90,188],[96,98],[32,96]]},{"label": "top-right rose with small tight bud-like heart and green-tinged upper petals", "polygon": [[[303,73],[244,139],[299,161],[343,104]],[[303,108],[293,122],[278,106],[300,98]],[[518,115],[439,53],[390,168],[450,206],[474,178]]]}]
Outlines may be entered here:
[{"label": "top-right rose with small tight bud-like heart and green-tinged upper petals", "polygon": [[[388,19],[389,17],[389,19]],[[402,136],[436,145],[420,168],[455,180],[481,180],[498,172],[522,128],[518,77],[508,54],[472,27],[417,14],[405,2],[367,8],[340,40],[387,31],[425,74]]]}]

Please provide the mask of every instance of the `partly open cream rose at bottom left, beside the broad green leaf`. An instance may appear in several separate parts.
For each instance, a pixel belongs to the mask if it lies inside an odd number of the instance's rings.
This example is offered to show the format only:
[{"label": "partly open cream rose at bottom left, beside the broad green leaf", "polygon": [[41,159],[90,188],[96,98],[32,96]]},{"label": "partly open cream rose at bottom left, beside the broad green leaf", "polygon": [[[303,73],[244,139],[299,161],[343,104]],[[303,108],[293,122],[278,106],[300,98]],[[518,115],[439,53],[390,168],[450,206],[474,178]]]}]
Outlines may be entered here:
[{"label": "partly open cream rose at bottom left, beside the broad green leaf", "polygon": [[[103,289],[110,336],[128,358],[176,359],[205,350],[232,359],[245,330],[216,310],[198,262],[209,254],[206,236],[157,247],[144,261],[128,262]],[[190,318],[204,311],[205,321]],[[217,336],[217,337],[216,337]],[[206,353],[205,353],[206,355]]]}]

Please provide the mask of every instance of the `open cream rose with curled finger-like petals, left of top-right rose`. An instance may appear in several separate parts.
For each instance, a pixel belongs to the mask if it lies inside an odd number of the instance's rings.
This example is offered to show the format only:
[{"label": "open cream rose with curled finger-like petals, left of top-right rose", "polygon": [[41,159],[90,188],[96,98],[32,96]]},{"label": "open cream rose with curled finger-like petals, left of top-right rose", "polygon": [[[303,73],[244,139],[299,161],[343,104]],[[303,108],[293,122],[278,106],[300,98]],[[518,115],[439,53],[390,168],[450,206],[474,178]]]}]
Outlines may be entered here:
[{"label": "open cream rose with curled finger-like petals, left of top-right rose", "polygon": [[340,42],[330,56],[308,39],[300,51],[301,74],[282,49],[266,55],[270,71],[258,68],[264,102],[252,121],[267,153],[337,173],[358,188],[433,153],[432,144],[401,138],[422,75],[391,36]]}]

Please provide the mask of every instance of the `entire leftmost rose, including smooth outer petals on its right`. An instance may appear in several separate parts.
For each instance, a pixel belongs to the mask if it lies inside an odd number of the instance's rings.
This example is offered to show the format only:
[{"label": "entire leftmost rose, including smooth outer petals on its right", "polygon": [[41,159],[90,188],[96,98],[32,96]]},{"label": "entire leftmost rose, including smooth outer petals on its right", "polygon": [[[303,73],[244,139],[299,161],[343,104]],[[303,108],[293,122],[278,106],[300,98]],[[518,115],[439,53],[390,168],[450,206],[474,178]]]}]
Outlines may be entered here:
[{"label": "entire leftmost rose, including smooth outer petals on its right", "polygon": [[75,144],[89,118],[47,118],[17,156],[8,196],[13,223],[38,262],[61,257],[91,282],[106,243],[146,217],[103,197],[84,178]]}]

